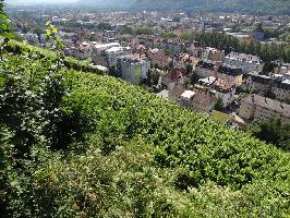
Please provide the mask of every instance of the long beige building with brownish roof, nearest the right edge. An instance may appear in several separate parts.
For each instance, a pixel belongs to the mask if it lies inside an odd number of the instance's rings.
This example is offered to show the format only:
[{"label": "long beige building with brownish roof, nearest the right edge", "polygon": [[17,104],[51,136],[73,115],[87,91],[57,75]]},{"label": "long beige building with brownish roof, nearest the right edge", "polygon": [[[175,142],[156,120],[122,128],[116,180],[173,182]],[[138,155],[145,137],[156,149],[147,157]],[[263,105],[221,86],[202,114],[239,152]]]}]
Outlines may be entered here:
[{"label": "long beige building with brownish roof, nearest the right edge", "polygon": [[242,100],[239,114],[249,120],[279,118],[290,122],[290,105],[259,95],[249,95]]}]

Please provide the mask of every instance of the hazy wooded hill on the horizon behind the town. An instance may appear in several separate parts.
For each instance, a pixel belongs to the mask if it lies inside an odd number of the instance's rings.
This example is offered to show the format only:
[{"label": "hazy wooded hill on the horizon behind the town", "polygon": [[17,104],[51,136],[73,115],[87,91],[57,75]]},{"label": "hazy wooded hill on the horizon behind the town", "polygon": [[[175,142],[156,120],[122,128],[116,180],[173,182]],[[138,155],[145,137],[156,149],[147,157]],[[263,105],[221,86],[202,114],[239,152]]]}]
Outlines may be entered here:
[{"label": "hazy wooded hill on the horizon behind the town", "polygon": [[290,14],[290,0],[78,0],[83,5],[142,10],[182,9],[201,12],[242,12],[251,14]]}]

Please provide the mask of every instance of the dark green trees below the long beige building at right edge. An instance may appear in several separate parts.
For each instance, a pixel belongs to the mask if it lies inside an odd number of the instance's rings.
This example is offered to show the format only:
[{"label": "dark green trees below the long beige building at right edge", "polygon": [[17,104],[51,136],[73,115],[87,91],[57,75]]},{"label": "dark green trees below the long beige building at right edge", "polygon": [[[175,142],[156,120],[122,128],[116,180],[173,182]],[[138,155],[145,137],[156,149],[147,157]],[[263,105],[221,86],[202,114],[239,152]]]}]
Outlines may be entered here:
[{"label": "dark green trees below the long beige building at right edge", "polygon": [[252,123],[249,132],[255,137],[290,152],[290,123],[270,119]]}]

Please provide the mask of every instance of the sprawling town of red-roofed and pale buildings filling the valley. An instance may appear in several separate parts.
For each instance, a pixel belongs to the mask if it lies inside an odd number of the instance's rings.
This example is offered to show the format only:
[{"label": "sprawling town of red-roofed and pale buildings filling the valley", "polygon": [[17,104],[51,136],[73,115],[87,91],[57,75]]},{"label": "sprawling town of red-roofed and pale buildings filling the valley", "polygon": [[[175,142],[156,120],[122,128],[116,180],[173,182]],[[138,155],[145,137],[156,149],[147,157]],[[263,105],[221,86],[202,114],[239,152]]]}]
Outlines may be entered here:
[{"label": "sprawling town of red-roofed and pale buildings filling the valley", "polygon": [[10,7],[15,32],[49,48],[46,20],[62,52],[233,129],[290,121],[288,15],[111,12]]}]

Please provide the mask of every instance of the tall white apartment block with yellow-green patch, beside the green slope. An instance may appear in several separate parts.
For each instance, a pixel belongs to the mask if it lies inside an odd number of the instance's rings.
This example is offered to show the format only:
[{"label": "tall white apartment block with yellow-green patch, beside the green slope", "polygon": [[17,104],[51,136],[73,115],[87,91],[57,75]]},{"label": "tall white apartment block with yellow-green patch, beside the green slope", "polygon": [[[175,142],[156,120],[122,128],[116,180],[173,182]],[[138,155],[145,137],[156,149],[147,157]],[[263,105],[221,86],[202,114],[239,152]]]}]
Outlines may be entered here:
[{"label": "tall white apartment block with yellow-green patch, beside the green slope", "polygon": [[132,84],[140,84],[147,78],[150,62],[135,56],[122,56],[117,58],[117,74]]}]

